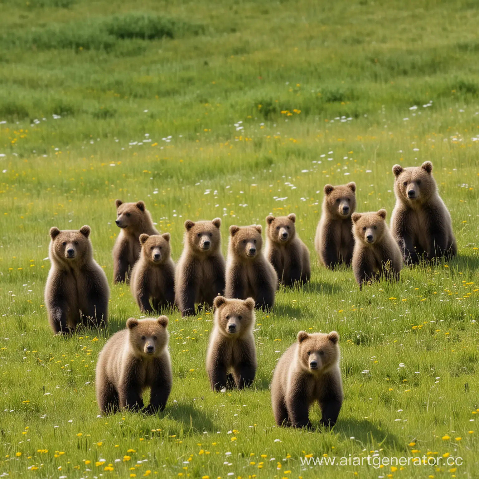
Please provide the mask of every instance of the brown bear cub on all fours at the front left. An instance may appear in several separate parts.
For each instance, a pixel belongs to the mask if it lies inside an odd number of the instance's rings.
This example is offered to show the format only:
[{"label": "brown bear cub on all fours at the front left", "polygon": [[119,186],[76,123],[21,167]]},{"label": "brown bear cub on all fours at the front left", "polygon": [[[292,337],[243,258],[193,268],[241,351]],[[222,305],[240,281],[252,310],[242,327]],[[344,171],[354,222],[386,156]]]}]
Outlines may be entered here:
[{"label": "brown bear cub on all fours at the front left", "polygon": [[170,396],[172,373],[168,352],[168,318],[126,321],[103,347],[96,366],[96,398],[102,412],[143,410],[142,393],[150,389],[144,412],[162,411]]}]

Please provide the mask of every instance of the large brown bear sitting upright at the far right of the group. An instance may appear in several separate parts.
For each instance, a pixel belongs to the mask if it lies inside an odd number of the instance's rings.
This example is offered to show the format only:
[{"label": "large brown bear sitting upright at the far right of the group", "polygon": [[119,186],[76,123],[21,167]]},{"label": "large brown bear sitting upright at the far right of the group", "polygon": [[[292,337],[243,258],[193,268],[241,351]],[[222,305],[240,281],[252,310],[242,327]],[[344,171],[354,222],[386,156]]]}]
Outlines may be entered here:
[{"label": "large brown bear sitting upright at the far right of the group", "polygon": [[391,231],[404,262],[414,264],[421,259],[455,256],[457,246],[451,215],[437,193],[431,161],[410,168],[394,165],[392,171],[396,205]]}]

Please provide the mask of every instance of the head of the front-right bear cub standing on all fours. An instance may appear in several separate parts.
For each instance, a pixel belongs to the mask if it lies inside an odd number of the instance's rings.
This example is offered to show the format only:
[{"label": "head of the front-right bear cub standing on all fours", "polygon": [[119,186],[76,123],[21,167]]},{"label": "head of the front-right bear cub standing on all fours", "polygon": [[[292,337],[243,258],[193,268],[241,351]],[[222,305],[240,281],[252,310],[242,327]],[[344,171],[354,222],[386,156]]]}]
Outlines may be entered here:
[{"label": "head of the front-right bear cub standing on all fours", "polygon": [[299,331],[297,354],[301,368],[309,374],[323,374],[339,361],[339,334]]}]

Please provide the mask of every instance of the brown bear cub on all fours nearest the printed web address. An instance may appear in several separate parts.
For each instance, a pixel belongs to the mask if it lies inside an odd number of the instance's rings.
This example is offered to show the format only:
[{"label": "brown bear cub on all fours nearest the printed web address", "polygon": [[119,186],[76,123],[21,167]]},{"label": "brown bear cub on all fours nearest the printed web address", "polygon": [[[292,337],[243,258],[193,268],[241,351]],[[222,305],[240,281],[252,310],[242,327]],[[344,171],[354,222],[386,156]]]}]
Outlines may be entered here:
[{"label": "brown bear cub on all fours nearest the printed web address", "polygon": [[339,335],[299,331],[274,369],[271,402],[278,426],[311,427],[309,408],[319,402],[321,423],[334,426],[342,405]]}]

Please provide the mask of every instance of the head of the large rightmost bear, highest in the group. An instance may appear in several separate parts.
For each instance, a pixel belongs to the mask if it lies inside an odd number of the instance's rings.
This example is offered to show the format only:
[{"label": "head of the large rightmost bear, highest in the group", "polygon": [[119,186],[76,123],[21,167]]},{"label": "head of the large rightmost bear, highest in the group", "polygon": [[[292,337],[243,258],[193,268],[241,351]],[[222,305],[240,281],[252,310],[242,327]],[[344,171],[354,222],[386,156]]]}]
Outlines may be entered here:
[{"label": "head of the large rightmost bear, highest in the group", "polygon": [[409,168],[394,165],[392,171],[395,177],[394,193],[403,203],[409,205],[425,203],[437,191],[431,161],[424,161],[421,166]]}]

